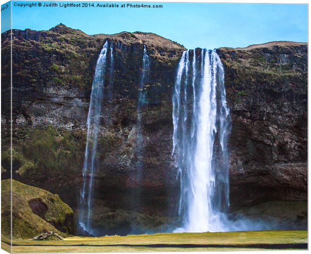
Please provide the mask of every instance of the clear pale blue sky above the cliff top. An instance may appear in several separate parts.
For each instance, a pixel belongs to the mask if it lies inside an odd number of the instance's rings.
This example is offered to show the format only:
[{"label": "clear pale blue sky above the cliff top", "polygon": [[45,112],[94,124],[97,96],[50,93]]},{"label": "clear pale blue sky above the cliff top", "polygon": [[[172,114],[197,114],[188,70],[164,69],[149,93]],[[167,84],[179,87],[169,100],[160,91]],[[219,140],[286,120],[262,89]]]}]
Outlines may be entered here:
[{"label": "clear pale blue sky above the cliff top", "polygon": [[244,47],[278,40],[307,42],[307,5],[159,4],[162,9],[13,6],[13,28],[48,30],[63,23],[87,34],[152,32],[186,48]]}]

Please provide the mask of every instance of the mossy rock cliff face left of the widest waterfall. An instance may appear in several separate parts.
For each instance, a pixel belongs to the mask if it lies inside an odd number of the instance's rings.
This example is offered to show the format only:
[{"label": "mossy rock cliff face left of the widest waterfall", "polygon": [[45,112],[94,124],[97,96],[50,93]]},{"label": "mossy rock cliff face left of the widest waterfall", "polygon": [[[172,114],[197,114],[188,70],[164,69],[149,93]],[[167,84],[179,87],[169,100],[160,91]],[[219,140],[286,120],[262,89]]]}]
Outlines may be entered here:
[{"label": "mossy rock cliff face left of the widest waterfall", "polygon": [[[149,225],[163,230],[163,224],[171,224],[167,215],[171,210],[174,214],[172,200],[178,199],[175,190],[179,190],[171,157],[171,96],[175,68],[185,48],[154,34],[88,36],[63,25],[50,31],[13,33],[14,178],[58,193],[78,208],[92,80],[98,54],[108,39],[114,48],[114,89],[109,96],[110,83],[105,80],[97,153],[100,164],[94,183],[97,223],[110,233],[124,227],[130,232],[132,223],[138,225],[136,232],[145,232]],[[145,170],[143,182],[137,183],[137,97],[143,44],[150,58],[150,79],[144,91],[147,106],[142,109]],[[7,154],[3,165],[9,169]],[[141,213],[135,202],[138,193],[144,197],[139,201]]]}]

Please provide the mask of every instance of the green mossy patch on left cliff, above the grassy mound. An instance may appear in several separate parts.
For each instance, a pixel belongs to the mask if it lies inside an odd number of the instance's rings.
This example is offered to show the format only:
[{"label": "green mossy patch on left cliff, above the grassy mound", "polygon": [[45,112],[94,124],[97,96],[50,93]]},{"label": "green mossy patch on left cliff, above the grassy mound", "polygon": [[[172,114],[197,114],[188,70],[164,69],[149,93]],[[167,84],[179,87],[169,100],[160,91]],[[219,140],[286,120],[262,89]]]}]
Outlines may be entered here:
[{"label": "green mossy patch on left cliff, above the grassy mound", "polygon": [[84,140],[75,141],[66,130],[58,131],[52,126],[30,130],[16,146],[16,159],[21,161],[18,172],[25,177],[48,176],[60,174],[66,168],[70,173],[79,168],[72,161],[79,161],[83,147]]}]

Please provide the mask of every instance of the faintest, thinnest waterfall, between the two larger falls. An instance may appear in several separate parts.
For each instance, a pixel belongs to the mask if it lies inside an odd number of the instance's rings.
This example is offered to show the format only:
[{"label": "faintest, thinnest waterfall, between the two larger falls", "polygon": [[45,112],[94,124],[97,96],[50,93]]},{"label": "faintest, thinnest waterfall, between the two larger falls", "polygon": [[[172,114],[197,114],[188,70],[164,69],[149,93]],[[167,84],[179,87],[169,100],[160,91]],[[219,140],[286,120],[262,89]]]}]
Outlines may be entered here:
[{"label": "faintest, thinnest waterfall, between the two larger falls", "polygon": [[150,70],[150,62],[149,56],[147,54],[146,46],[143,45],[143,56],[142,56],[142,69],[141,69],[141,76],[139,82],[139,89],[138,89],[138,102],[137,102],[137,125],[136,125],[136,145],[137,145],[137,180],[141,178],[141,171],[142,171],[142,156],[143,156],[143,135],[142,135],[142,124],[141,124],[141,108],[146,103],[146,94],[144,91],[144,84],[148,80]]}]

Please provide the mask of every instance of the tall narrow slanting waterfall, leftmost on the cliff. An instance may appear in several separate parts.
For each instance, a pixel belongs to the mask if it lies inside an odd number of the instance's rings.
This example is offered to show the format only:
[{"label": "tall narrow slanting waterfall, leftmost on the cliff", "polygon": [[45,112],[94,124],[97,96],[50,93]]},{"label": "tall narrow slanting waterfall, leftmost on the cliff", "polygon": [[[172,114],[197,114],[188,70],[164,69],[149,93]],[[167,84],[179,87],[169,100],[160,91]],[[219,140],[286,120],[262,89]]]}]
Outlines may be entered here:
[{"label": "tall narrow slanting waterfall, leftmost on the cliff", "polygon": [[[110,48],[108,40],[105,42],[97,59],[95,75],[92,84],[90,106],[87,117],[87,140],[85,147],[84,165],[82,170],[83,186],[80,195],[79,230],[82,234],[94,234],[92,230],[92,193],[94,173],[96,172],[98,158],[96,156],[100,116],[104,99],[104,80],[106,72],[107,52],[110,50],[112,59],[112,42]],[[110,66],[110,69],[112,66]]]}]

